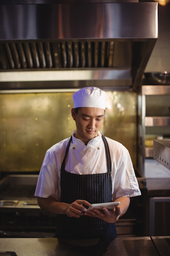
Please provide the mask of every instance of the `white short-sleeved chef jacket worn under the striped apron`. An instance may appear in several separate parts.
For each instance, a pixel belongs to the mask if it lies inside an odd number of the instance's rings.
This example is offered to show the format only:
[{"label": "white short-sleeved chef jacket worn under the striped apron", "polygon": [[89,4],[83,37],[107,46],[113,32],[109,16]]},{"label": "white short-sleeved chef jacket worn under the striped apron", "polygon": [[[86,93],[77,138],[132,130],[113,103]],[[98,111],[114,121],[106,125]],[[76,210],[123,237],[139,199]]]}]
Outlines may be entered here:
[{"label": "white short-sleeved chef jacket worn under the striped apron", "polygon": [[[74,133],[75,131],[72,132],[65,170],[80,175],[106,173],[106,152],[101,133],[98,132],[98,137],[91,139],[87,145],[80,139],[76,139]],[[60,170],[69,139],[58,142],[46,151],[35,196],[43,198],[52,196],[60,201]],[[106,140],[112,164],[113,201],[121,196],[141,195],[128,150],[113,139],[106,137]]]}]

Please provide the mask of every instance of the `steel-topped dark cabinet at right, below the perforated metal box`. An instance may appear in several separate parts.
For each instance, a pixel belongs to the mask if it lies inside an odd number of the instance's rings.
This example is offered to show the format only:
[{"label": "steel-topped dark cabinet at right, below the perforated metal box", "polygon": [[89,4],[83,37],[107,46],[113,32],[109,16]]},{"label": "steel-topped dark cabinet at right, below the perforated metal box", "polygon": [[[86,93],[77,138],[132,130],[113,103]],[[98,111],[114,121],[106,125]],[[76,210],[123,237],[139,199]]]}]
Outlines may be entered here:
[{"label": "steel-topped dark cabinet at right, below the perforated metal box", "polygon": [[148,178],[146,186],[146,235],[169,236],[170,178]]}]

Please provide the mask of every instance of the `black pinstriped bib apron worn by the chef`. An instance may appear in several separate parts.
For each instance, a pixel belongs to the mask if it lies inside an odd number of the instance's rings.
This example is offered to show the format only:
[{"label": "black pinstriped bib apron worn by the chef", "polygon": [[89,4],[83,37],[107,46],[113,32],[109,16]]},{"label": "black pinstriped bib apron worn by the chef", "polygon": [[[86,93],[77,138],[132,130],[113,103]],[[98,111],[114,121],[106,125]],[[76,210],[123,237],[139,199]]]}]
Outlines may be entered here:
[{"label": "black pinstriped bib apron worn by the chef", "polygon": [[[107,173],[79,175],[65,171],[66,157],[72,136],[68,142],[61,167],[61,200],[71,204],[77,199],[86,200],[91,204],[112,201],[111,159],[106,138],[102,135],[106,150]],[[62,239],[115,238],[115,223],[108,223],[99,218],[81,216],[68,217],[57,215],[55,237]]]}]

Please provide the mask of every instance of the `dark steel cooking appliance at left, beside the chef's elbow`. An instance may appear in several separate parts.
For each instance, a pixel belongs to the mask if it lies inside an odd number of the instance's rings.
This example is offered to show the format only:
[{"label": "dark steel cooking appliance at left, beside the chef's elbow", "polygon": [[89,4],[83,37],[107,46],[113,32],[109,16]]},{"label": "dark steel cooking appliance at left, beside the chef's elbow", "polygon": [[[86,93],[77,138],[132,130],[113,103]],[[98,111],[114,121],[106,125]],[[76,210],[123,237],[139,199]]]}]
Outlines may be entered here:
[{"label": "dark steel cooking appliance at left, beside the chef's elbow", "polygon": [[38,206],[37,180],[34,174],[0,180],[0,237],[53,237],[56,216]]}]

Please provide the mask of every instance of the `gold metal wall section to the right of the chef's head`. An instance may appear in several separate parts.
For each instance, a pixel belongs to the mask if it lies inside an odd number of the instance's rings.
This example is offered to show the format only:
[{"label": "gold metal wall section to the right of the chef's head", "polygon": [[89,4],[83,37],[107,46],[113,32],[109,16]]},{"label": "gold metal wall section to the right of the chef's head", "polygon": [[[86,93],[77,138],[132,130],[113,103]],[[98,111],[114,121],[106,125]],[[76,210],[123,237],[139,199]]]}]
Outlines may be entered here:
[{"label": "gold metal wall section to the right of the chef's head", "polygon": [[122,143],[136,166],[137,97],[132,92],[106,92],[106,113],[103,134]]}]

